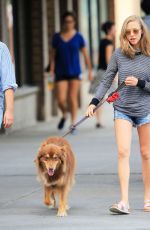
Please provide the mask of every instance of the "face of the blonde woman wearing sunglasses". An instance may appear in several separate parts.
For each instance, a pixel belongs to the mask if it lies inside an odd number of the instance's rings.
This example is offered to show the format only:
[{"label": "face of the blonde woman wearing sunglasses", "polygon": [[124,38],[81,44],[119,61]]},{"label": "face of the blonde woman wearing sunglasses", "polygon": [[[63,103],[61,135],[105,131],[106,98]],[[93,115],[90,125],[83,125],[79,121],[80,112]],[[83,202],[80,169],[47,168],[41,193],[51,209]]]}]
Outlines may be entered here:
[{"label": "face of the blonde woman wearing sunglasses", "polygon": [[132,46],[139,44],[142,36],[142,29],[137,21],[129,22],[126,27],[126,38]]}]

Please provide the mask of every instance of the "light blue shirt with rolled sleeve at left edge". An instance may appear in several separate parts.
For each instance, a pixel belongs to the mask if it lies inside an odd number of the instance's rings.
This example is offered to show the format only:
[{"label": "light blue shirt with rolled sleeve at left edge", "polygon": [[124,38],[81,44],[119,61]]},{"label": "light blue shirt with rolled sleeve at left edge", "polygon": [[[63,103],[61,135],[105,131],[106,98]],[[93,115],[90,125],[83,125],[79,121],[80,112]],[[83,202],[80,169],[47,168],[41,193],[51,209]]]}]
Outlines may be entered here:
[{"label": "light blue shirt with rolled sleeve at left edge", "polygon": [[4,92],[17,88],[14,66],[7,46],[0,42],[0,110],[4,109]]}]

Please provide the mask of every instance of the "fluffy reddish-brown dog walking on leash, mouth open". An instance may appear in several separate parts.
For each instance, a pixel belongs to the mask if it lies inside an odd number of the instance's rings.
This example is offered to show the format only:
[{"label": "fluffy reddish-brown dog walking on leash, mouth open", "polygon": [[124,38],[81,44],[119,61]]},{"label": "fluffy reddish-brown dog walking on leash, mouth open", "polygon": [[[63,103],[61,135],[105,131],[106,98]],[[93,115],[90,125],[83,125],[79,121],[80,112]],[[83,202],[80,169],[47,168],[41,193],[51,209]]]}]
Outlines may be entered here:
[{"label": "fluffy reddish-brown dog walking on leash, mouth open", "polygon": [[45,205],[55,207],[55,194],[58,194],[57,216],[67,216],[67,198],[75,171],[75,156],[69,143],[62,137],[48,138],[41,144],[35,163],[44,186]]}]

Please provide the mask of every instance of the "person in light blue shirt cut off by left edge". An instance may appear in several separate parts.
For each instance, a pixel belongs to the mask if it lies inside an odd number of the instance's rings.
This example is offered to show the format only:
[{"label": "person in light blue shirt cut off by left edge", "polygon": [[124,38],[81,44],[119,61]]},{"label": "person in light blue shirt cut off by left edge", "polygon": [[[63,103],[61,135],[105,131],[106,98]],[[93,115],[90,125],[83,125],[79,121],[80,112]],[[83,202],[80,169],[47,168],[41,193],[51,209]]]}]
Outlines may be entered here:
[{"label": "person in light blue shirt cut off by left edge", "polygon": [[17,88],[11,56],[7,46],[0,42],[0,128],[9,128],[14,122],[14,90]]}]

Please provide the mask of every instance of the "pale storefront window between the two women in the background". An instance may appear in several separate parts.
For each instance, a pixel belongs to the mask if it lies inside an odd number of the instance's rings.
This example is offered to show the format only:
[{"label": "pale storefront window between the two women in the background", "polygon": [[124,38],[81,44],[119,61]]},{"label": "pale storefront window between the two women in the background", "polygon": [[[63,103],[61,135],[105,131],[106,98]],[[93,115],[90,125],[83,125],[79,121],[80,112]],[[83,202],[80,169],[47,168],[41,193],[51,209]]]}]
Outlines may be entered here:
[{"label": "pale storefront window between the two women in the background", "polygon": [[87,41],[93,67],[97,67],[99,40],[103,36],[100,27],[108,18],[107,1],[82,0],[79,10],[79,29]]}]

